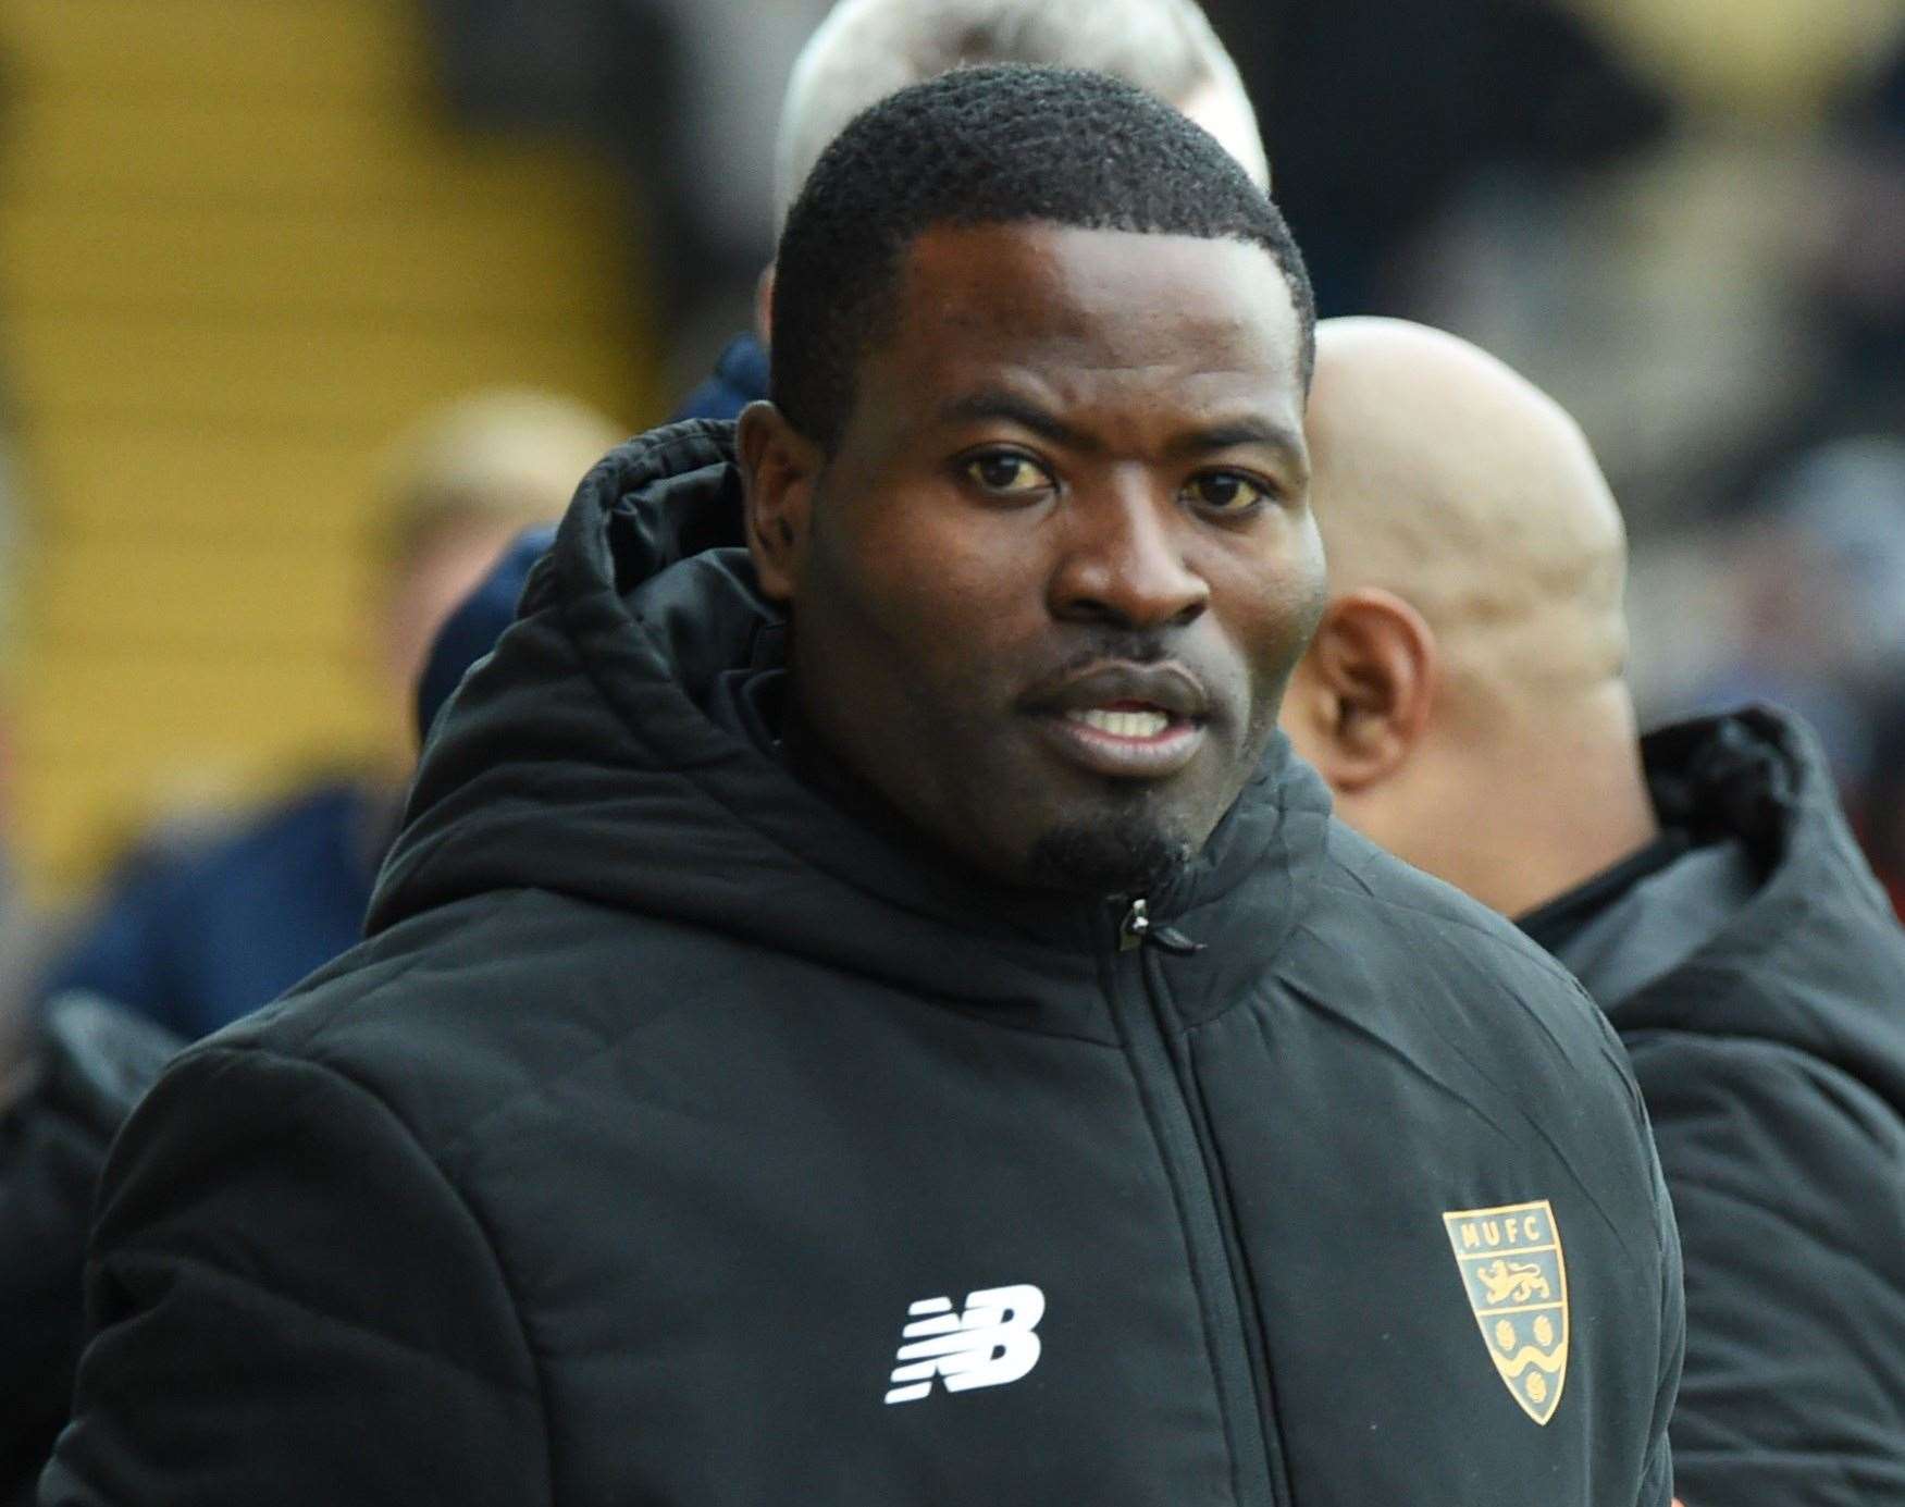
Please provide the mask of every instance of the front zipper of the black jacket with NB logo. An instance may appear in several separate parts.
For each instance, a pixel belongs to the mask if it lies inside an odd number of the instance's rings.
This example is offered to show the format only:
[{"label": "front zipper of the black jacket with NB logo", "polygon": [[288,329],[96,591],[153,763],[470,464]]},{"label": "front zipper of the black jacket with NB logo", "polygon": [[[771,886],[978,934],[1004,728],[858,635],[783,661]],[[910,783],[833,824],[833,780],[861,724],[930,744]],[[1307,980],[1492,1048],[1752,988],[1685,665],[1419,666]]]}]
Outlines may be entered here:
[{"label": "front zipper of the black jacket with NB logo", "polygon": [[[1173,1048],[1168,1006],[1158,981],[1149,975],[1141,951],[1145,943],[1173,953],[1200,951],[1198,943],[1170,928],[1158,928],[1143,897],[1133,899],[1118,922],[1118,954],[1139,953],[1135,970],[1111,972],[1111,1004],[1132,1055],[1132,1069],[1143,1090],[1179,1202],[1185,1244],[1191,1252],[1191,1275],[1204,1309],[1204,1336],[1217,1377],[1217,1402],[1223,1410],[1231,1459],[1236,1471],[1238,1507],[1286,1507],[1282,1461],[1271,1469],[1273,1440],[1265,1435],[1263,1396],[1269,1377],[1259,1376],[1261,1360],[1244,1337],[1238,1273],[1217,1196],[1215,1172],[1198,1132],[1185,1075],[1189,1065],[1181,1048]],[[1137,1000],[1118,987],[1120,975],[1135,972]]]}]

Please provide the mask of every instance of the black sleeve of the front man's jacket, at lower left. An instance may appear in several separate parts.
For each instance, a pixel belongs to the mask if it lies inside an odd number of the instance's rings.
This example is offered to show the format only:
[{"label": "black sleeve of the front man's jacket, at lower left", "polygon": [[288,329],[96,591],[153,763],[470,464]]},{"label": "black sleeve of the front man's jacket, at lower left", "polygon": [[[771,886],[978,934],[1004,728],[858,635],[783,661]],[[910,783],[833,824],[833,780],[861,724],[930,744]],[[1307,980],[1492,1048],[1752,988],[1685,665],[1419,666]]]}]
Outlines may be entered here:
[{"label": "black sleeve of the front man's jacket, at lower left", "polygon": [[343,1075],[208,1046],[112,1151],[44,1507],[551,1499],[490,1240]]}]

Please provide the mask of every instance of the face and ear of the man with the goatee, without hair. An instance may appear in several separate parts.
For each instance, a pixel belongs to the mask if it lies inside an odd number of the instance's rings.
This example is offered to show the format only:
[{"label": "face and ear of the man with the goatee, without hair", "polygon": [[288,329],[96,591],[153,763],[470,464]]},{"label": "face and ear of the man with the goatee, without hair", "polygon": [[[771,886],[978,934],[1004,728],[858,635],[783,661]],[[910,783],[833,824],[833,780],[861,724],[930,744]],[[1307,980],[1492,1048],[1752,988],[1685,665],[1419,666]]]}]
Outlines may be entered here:
[{"label": "face and ear of the man with the goatee, without hair", "polygon": [[1322,602],[1274,259],[933,229],[855,392],[831,457],[741,421],[806,733],[993,878],[1160,878],[1255,770]]}]

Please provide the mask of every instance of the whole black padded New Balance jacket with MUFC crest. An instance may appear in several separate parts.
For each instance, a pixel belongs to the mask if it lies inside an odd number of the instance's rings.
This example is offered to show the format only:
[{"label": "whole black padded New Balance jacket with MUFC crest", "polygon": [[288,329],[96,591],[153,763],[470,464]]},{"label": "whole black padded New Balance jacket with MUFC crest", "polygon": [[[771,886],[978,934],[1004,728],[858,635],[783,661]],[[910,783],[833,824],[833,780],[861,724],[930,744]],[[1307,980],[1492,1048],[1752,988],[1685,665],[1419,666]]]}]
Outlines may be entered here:
[{"label": "whole black padded New Balance jacket with MUFC crest", "polygon": [[371,939],[137,1113],[44,1501],[1661,1507],[1574,981],[1282,743],[1149,911],[842,815],[724,699],[730,444],[591,474]]}]

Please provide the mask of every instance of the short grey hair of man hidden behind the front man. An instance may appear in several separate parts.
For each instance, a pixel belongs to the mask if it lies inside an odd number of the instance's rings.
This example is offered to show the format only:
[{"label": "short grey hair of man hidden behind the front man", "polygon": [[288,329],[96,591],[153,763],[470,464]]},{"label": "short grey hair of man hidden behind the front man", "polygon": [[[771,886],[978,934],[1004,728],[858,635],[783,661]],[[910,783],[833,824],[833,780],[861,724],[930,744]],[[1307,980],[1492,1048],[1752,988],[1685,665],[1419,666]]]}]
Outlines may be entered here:
[{"label": "short grey hair of man hidden behind the front man", "polygon": [[1109,72],[1177,107],[1215,90],[1246,128],[1227,145],[1259,187],[1271,185],[1244,80],[1196,0],[840,0],[787,80],[775,223],[848,120],[909,84],[979,63]]}]

